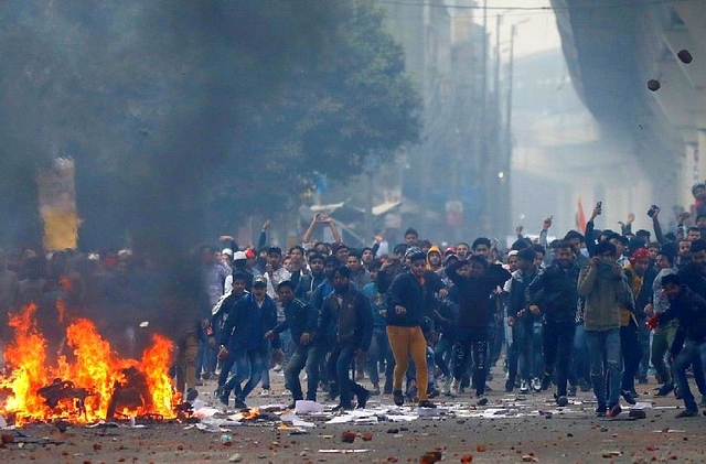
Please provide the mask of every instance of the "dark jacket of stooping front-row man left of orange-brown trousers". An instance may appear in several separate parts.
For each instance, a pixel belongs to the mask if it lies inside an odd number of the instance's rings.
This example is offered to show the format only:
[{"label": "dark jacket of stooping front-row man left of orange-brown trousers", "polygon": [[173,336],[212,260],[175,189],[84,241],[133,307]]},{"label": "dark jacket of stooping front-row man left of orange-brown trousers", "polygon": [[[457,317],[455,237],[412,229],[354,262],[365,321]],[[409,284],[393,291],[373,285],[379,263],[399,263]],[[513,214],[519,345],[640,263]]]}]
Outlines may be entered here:
[{"label": "dark jacket of stooping front-row man left of orange-brown trousers", "polygon": [[353,287],[323,299],[318,322],[319,334],[329,344],[353,344],[367,352],[373,339],[373,310],[367,296]]}]

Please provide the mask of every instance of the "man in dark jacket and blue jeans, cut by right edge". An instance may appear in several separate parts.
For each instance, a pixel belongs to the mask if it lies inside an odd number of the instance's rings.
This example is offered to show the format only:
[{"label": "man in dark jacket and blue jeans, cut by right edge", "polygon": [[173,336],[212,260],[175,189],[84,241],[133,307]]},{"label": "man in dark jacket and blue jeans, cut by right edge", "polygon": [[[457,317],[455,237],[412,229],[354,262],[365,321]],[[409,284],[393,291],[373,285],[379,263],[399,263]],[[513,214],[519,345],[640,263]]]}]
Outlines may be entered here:
[{"label": "man in dark jacket and blue jeans, cut by right edge", "polygon": [[[680,322],[680,330],[671,348],[673,354],[678,352],[672,370],[684,399],[684,410],[676,418],[693,418],[698,416],[698,407],[688,387],[686,369],[691,365],[706,363],[706,300],[683,285],[682,278],[677,274],[664,276],[662,288],[670,301],[670,309],[660,315],[660,323],[672,319]],[[694,369],[694,375],[698,375],[697,370]]]}]

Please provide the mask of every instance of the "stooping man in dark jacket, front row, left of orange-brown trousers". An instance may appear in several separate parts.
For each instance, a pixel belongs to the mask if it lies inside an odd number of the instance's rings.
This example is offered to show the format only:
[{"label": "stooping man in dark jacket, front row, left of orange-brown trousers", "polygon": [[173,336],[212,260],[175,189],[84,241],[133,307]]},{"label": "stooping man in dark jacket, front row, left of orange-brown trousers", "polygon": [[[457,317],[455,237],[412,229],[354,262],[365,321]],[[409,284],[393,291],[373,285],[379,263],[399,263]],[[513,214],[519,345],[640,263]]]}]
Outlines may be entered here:
[{"label": "stooping man in dark jacket, front row, left of orange-brown trousers", "polygon": [[357,408],[365,408],[371,393],[351,379],[351,362],[365,355],[373,338],[373,310],[367,296],[353,289],[351,270],[345,266],[333,272],[333,293],[323,299],[319,316],[318,333],[325,337],[333,352],[328,370],[339,386],[341,400],[335,410],[353,409],[352,396],[357,398]]}]

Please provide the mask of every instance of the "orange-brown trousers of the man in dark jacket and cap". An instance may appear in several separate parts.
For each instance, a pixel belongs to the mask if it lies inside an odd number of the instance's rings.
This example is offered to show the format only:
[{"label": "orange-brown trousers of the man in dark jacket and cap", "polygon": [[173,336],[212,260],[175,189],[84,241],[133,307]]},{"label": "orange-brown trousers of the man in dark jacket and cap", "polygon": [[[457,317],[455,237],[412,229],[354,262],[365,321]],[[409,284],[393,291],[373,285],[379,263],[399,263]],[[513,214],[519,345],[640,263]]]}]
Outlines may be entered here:
[{"label": "orange-brown trousers of the man in dark jacket and cap", "polygon": [[421,327],[403,327],[397,325],[387,326],[389,346],[395,356],[394,390],[402,390],[402,380],[407,373],[409,357],[417,367],[417,388],[419,389],[419,401],[428,400],[427,384],[429,371],[427,369],[427,339],[424,337]]}]

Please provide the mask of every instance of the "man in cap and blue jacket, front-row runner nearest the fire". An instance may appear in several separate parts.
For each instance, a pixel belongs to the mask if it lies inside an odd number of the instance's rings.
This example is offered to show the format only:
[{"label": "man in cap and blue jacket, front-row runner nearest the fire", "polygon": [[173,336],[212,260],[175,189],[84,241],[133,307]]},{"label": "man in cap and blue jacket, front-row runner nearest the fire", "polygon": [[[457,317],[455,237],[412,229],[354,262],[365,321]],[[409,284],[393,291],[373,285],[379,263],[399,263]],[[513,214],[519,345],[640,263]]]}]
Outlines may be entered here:
[{"label": "man in cap and blue jacket, front-row runner nearest the fire", "polygon": [[[235,304],[221,334],[218,358],[228,362],[234,358],[236,374],[218,389],[218,399],[227,404],[232,391],[235,407],[246,408],[245,399],[255,389],[267,368],[269,341],[265,334],[277,324],[275,301],[267,295],[267,279],[258,276],[253,281],[253,293],[243,296]],[[249,369],[248,369],[249,365]],[[250,377],[242,387],[243,380]]]}]

